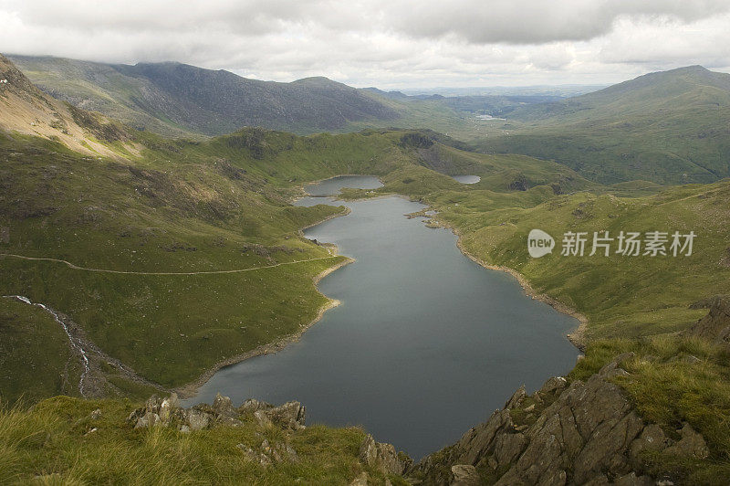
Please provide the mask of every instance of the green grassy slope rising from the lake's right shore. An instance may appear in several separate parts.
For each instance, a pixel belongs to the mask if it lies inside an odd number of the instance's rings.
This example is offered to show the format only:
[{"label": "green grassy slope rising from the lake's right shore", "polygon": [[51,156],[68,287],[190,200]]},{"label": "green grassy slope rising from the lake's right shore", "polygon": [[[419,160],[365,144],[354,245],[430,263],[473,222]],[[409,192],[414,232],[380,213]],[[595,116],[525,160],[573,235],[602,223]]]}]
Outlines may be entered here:
[{"label": "green grassy slope rising from the lake's right shore", "polygon": [[[730,291],[727,251],[730,185],[689,186],[659,195],[618,198],[582,193],[561,196],[532,208],[506,207],[474,212],[483,200],[435,201],[446,205],[443,219],[464,231],[464,248],[481,259],[517,269],[538,291],[568,303],[589,317],[589,337],[672,332],[702,312],[688,305]],[[448,197],[448,196],[447,196]],[[698,235],[691,257],[527,256],[526,238],[540,228],[560,239],[567,231],[674,231]],[[559,247],[559,240],[558,240]]]}]

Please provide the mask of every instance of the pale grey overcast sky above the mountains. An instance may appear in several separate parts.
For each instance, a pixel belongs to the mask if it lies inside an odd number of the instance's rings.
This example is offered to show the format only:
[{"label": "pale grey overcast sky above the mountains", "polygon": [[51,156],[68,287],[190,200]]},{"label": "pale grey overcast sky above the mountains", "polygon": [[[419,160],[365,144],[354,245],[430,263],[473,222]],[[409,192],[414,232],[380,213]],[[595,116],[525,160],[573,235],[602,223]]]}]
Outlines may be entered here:
[{"label": "pale grey overcast sky above the mountains", "polygon": [[0,52],[385,89],[730,71],[730,0],[0,0]]}]

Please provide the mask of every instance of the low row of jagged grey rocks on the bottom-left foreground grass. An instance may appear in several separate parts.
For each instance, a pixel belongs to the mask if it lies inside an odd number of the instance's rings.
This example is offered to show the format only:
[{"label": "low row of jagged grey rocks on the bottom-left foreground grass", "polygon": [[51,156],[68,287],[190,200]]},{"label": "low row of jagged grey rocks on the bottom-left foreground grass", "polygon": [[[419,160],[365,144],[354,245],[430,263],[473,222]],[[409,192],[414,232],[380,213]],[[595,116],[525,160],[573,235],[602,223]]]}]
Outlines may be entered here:
[{"label": "low row of jagged grey rocks on the bottom-left foreground grass", "polygon": [[305,428],[305,407],[299,402],[287,402],[274,407],[265,402],[247,400],[241,407],[235,408],[228,396],[218,394],[213,405],[199,404],[183,408],[177,394],[173,393],[167,398],[151,396],[144,407],[137,408],[130,414],[127,421],[134,428],[164,426],[190,432],[215,426],[241,427],[242,420],[246,418],[255,419],[259,425],[299,430]]}]

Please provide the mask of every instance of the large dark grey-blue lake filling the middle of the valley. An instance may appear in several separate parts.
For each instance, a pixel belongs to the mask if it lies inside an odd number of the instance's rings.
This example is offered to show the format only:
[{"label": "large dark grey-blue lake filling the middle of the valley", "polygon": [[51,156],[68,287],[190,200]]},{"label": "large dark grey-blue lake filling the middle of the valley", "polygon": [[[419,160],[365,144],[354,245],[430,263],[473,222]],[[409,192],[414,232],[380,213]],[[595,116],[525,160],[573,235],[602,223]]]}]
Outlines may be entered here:
[{"label": "large dark grey-blue lake filling the middle of the valley", "polygon": [[[308,192],[378,185],[345,176]],[[565,335],[578,322],[466,258],[451,231],[403,216],[422,205],[395,196],[333,204],[352,211],[306,236],[356,259],[318,284],[339,307],[284,350],[220,370],[186,405],[217,392],[235,404],[298,400],[308,424],[361,425],[417,460],[486,420],[518,386],[535,390],[575,364]]]}]

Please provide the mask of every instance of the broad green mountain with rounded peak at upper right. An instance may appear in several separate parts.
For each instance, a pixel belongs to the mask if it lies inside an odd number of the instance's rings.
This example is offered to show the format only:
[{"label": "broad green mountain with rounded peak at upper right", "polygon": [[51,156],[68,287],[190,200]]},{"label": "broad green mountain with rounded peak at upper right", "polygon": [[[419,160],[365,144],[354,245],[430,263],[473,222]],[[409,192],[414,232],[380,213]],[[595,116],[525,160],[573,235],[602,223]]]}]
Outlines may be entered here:
[{"label": "broad green mountain with rounded peak at upper right", "polygon": [[691,66],[504,111],[487,152],[567,164],[598,182],[707,183],[730,175],[730,75]]}]

